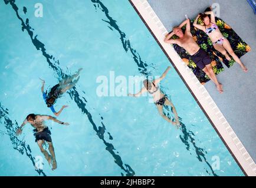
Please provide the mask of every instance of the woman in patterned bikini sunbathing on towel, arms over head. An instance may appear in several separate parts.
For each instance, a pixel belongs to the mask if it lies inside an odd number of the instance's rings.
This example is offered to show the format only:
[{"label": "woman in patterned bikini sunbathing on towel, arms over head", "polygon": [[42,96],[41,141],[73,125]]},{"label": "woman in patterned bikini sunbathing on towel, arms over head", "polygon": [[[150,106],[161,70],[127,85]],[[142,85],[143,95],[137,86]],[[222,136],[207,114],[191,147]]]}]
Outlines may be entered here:
[{"label": "woman in patterned bikini sunbathing on towel, arms over head", "polygon": [[[211,15],[211,19],[209,18],[209,15]],[[200,17],[204,22],[204,26],[197,24],[198,19]],[[232,58],[234,58],[234,60],[241,66],[242,70],[244,70],[244,72],[247,72],[248,69],[244,66],[244,64],[240,61],[238,56],[235,54],[228,39],[224,38],[221,31],[219,31],[219,28],[215,22],[214,12],[208,11],[208,12],[205,12],[204,14],[199,14],[196,17],[193,23],[193,26],[204,31],[211,39],[212,45],[214,45],[214,48],[217,51],[221,52],[222,55],[224,55],[228,59],[228,61],[231,61],[231,58],[228,55],[229,53],[232,56]]]}]

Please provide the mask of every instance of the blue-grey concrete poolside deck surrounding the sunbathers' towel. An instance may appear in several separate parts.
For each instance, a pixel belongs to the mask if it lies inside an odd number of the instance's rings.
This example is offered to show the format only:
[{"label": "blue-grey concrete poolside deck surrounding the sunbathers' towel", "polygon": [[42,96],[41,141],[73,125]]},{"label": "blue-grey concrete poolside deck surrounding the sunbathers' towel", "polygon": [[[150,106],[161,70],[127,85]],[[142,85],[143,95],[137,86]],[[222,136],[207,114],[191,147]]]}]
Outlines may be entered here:
[{"label": "blue-grey concrete poolside deck surrounding the sunbathers' towel", "polygon": [[228,120],[242,144],[256,161],[256,15],[247,1],[239,0],[147,0],[156,15],[168,31],[189,18],[195,18],[199,12],[214,3],[220,6],[220,18],[224,19],[235,32],[251,46],[251,52],[242,56],[241,60],[249,69],[242,72],[238,64],[230,69],[225,65],[225,71],[217,77],[224,85],[224,93],[220,95],[214,83],[208,82],[205,88],[214,99],[216,105]]}]

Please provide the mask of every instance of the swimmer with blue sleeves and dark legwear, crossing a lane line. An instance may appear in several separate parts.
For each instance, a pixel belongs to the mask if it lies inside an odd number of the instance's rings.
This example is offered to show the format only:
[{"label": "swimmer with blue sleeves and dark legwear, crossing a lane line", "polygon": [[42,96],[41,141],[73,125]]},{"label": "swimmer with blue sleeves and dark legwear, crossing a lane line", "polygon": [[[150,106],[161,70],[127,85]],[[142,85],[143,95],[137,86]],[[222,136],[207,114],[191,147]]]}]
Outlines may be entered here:
[{"label": "swimmer with blue sleeves and dark legwear, crossing a lane line", "polygon": [[[76,74],[72,76],[67,76],[67,78],[64,78],[60,83],[53,86],[49,93],[44,92],[45,81],[41,79],[42,80],[42,88],[41,88],[42,98],[44,98],[45,103],[47,104],[47,107],[51,109],[52,113],[54,113],[55,116],[59,116],[60,113],[63,111],[63,109],[67,108],[68,106],[63,105],[60,111],[56,112],[53,105],[55,104],[57,98],[63,95],[63,93],[65,93],[68,89],[73,88],[73,86],[76,85],[76,83],[80,78],[78,75],[81,70],[82,68],[78,69]],[[77,79],[73,81],[74,78],[77,78]]]}]

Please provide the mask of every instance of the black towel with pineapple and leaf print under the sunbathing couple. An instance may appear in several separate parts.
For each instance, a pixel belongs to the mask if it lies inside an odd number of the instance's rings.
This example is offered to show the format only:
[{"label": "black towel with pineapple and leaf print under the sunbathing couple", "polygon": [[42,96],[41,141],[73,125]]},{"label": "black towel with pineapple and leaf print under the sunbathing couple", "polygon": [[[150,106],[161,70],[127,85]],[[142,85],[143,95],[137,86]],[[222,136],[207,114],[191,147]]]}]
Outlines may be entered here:
[{"label": "black towel with pineapple and leaf print under the sunbathing couple", "polygon": [[[222,53],[216,51],[214,46],[212,45],[211,39],[206,35],[204,31],[201,31],[193,26],[193,22],[195,19],[191,21],[191,33],[193,36],[193,39],[198,43],[198,45],[204,49],[207,53],[209,58],[211,58],[211,66],[214,70],[215,74],[218,75],[220,72],[224,71],[224,67],[222,65],[222,62],[230,68],[232,65],[234,65],[235,61],[232,58],[231,61],[228,61]],[[241,56],[245,55],[245,53],[249,52],[251,50],[250,46],[248,46],[247,43],[242,40],[237,33],[228,25],[226,24],[222,19],[215,17],[216,25],[218,25],[219,30],[221,31],[222,35],[228,39],[230,42],[233,51],[237,54],[238,58],[241,58]],[[201,19],[198,19],[198,24],[202,24]],[[186,26],[183,26],[182,30],[185,31]],[[174,35],[172,39],[176,39],[178,36]],[[201,69],[199,69],[195,62],[191,59],[191,55],[189,55],[188,52],[185,51],[185,49],[181,48],[179,45],[173,44],[173,48],[175,51],[179,54],[180,58],[182,58],[182,61],[186,63],[186,65],[189,66],[189,68],[192,69],[193,73],[198,78],[199,82],[202,84],[209,81],[209,77],[205,74],[205,72]]]}]

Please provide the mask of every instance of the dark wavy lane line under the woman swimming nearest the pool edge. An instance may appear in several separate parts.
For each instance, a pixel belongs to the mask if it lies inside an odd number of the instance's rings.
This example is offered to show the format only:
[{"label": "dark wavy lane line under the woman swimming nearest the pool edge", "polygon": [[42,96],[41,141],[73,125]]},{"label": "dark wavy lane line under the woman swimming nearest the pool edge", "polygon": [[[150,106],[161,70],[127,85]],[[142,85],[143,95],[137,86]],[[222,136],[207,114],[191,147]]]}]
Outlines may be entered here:
[{"label": "dark wavy lane line under the woman swimming nearest the pool edge", "polygon": [[[148,76],[148,72],[147,72],[147,64],[144,63],[142,61],[142,59],[140,58],[140,55],[138,52],[136,52],[136,50],[134,50],[132,48],[132,45],[130,44],[130,41],[129,39],[126,39],[126,35],[123,31],[120,30],[119,26],[117,25],[117,21],[115,21],[110,15],[109,15],[109,10],[107,9],[106,6],[104,6],[104,4],[100,1],[100,0],[91,0],[94,4],[98,4],[98,8],[101,7],[101,11],[104,12],[104,14],[106,15],[107,19],[109,19],[109,21],[106,21],[104,19],[102,19],[102,21],[108,23],[112,28],[116,29],[117,32],[119,32],[120,34],[120,39],[121,39],[121,42],[122,42],[122,45],[123,45],[123,48],[124,48],[124,51],[130,51],[133,55],[133,59],[134,61],[136,62],[137,66],[139,66],[139,71],[140,73],[142,73],[143,75],[145,76]],[[97,6],[94,5],[94,7],[97,9]],[[109,26],[108,26],[109,27]],[[110,28],[110,27],[109,27]],[[110,28],[111,29],[111,28]],[[111,29],[111,31],[113,31],[113,29]],[[137,54],[137,55],[136,55]],[[139,57],[137,57],[139,56]],[[138,61],[139,59],[139,61]],[[152,67],[153,68],[153,67]],[[200,147],[197,147],[196,146],[196,143],[195,143],[195,139],[193,138],[193,136],[195,136],[193,134],[193,132],[191,130],[189,130],[189,132],[186,130],[186,126],[181,123],[182,125],[182,133],[183,133],[183,136],[180,135],[180,140],[186,145],[186,149],[187,150],[190,150],[190,145],[189,145],[189,142],[192,143],[193,147],[195,148],[195,153],[196,153],[196,157],[198,158],[198,160],[200,162],[202,162],[202,159],[201,157],[204,158],[204,161],[205,163],[209,166],[209,168],[211,169],[212,171],[212,174],[214,174],[214,176],[218,176],[214,170],[212,169],[212,166],[211,164],[209,164],[209,162],[206,160],[206,157],[205,157],[205,150],[200,148]],[[203,153],[205,152],[205,153]],[[206,170],[206,173],[210,174],[208,172],[208,170]]]}]

